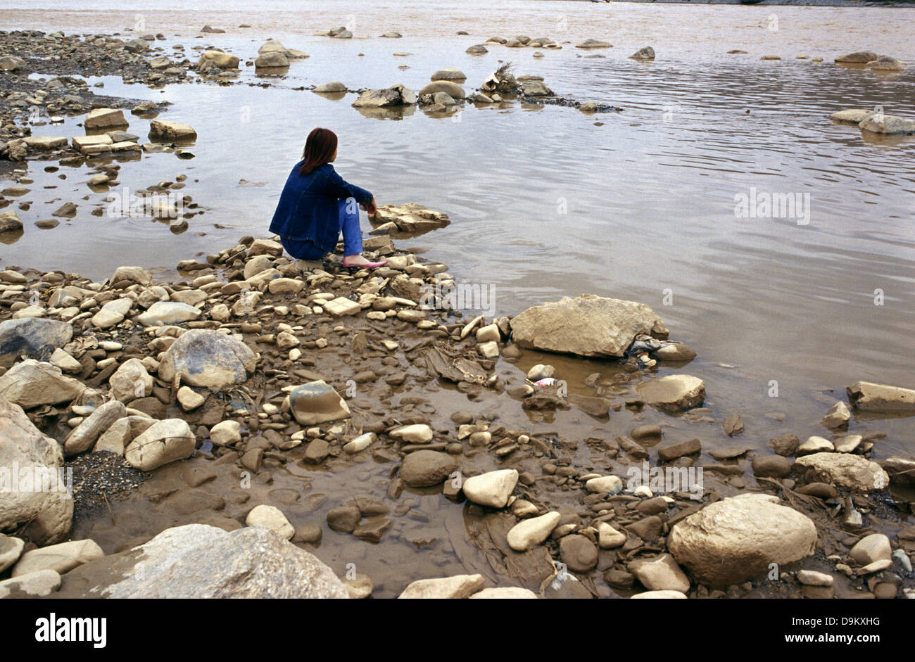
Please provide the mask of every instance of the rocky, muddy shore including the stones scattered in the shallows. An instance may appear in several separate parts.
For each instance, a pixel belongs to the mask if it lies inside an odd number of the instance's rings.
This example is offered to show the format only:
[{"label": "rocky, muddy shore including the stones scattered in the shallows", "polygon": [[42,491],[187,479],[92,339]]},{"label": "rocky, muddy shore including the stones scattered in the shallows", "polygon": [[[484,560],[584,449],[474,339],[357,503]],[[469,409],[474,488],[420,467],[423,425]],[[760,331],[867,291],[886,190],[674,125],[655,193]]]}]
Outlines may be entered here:
[{"label": "rocky, muddy shore including the stones scattered in the shallows", "polygon": [[[190,139],[191,127],[153,119],[162,142],[139,142],[124,111],[163,107],[98,97],[67,78],[74,67],[226,83],[242,61],[201,47],[154,66],[156,35],[2,37],[21,53],[0,58],[15,74],[0,76],[0,157],[15,166],[94,167],[100,154],[179,152]],[[281,75],[303,56],[268,41],[252,66]],[[30,70],[60,77],[20,75]],[[473,95],[465,78],[440,69],[417,92],[313,91],[358,93],[371,116],[468,101],[619,110],[556,97],[508,67]],[[85,113],[86,135],[33,138],[24,120],[37,107],[51,123]],[[835,119],[887,123],[845,113]],[[117,168],[97,176],[116,181]],[[13,198],[6,190],[5,206]],[[21,230],[15,211],[0,214],[0,232]],[[277,238],[253,236],[188,256],[178,277],[5,265],[0,597],[915,595],[915,460],[873,459],[878,417],[911,415],[915,391],[855,381],[812,412],[822,434],[760,443],[739,413],[705,406],[695,352],[649,306],[582,294],[480,315],[479,283],[394,243],[449,222],[417,204],[380,208],[365,249],[388,263],[371,272],[342,267],[339,251],[293,261]],[[595,368],[573,379],[550,357]],[[722,434],[733,441],[710,443]],[[406,550],[447,562],[412,568]]]}]

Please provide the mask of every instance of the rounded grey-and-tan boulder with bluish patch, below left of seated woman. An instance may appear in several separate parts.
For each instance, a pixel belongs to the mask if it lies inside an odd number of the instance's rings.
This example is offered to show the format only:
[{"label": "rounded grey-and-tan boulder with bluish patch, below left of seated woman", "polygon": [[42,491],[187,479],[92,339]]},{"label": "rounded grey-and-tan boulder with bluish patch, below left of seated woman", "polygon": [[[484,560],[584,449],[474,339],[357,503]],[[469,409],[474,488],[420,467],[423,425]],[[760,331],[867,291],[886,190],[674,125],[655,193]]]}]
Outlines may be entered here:
[{"label": "rounded grey-and-tan boulder with bluish patch, below left of seated woman", "polygon": [[180,375],[190,386],[224,389],[248,379],[256,366],[257,356],[237,336],[192,329],[168,347],[158,374],[169,383]]}]

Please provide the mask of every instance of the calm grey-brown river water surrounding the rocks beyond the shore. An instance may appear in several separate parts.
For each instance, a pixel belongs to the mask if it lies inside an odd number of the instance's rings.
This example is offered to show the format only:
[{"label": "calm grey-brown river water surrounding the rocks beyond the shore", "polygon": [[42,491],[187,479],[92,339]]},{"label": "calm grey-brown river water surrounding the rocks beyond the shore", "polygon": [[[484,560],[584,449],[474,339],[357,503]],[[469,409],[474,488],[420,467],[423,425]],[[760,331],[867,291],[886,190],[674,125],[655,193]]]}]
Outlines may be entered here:
[{"label": "calm grey-brown river water surrounding the rocks beyond the shore", "polygon": [[[779,432],[822,433],[822,412],[857,379],[915,387],[915,138],[877,141],[828,118],[877,104],[913,115],[911,66],[881,76],[832,63],[860,48],[915,60],[915,46],[904,38],[911,10],[476,0],[357,2],[332,10],[316,2],[263,2],[245,3],[243,11],[192,3],[187,11],[167,12],[151,2],[130,11],[106,2],[91,10],[70,0],[54,10],[39,10],[38,1],[14,4],[4,10],[5,29],[124,31],[142,20],[138,32],[165,33],[156,45],[169,52],[176,43],[191,54],[191,47],[211,44],[244,59],[277,37],[311,57],[295,60],[268,89],[189,84],[157,91],[102,79],[106,94],[172,101],[162,117],[199,133],[190,161],[159,154],[123,162],[122,186],[135,190],[185,173],[181,193],[206,213],[180,235],[148,219],[93,217],[92,206],[111,192],[92,193],[88,170],[61,168],[67,175],[61,180],[33,164],[28,174],[36,183],[26,199],[36,202],[19,214],[25,235],[0,246],[0,266],[102,279],[124,263],[170,271],[243,234],[264,235],[307,132],[325,125],[339,133],[339,172],[371,189],[380,204],[414,201],[451,216],[447,229],[400,245],[427,248],[458,279],[494,288],[495,312],[517,314],[583,292],[653,306],[672,337],[699,352],[682,369],[705,379],[716,418],[740,411],[748,430],[742,441],[751,445],[761,447]],[[777,31],[770,29],[773,15]],[[252,27],[235,27],[242,23]],[[372,38],[313,36],[344,23]],[[198,39],[204,24],[227,34]],[[470,36],[456,36],[458,29]],[[374,38],[389,30],[405,37]],[[464,53],[495,34],[545,35],[564,48],[545,50],[544,59],[533,59],[530,48]],[[607,38],[615,48],[574,48],[586,37]],[[646,44],[658,59],[627,59]],[[748,54],[727,55],[731,48]],[[411,55],[393,56],[397,51]],[[769,53],[782,59],[759,59]],[[605,57],[586,57],[595,54]],[[328,80],[351,89],[397,82],[418,89],[446,66],[463,69],[466,87],[475,88],[503,60],[515,62],[518,74],[543,75],[562,96],[625,110],[586,115],[510,104],[469,106],[455,119],[417,111],[382,121],[351,108],[352,95],[329,101],[292,90]],[[252,69],[242,69],[242,80],[256,80]],[[34,133],[82,133],[75,126],[80,120]],[[146,127],[131,118],[130,130],[142,139]],[[241,186],[242,178],[264,186]],[[43,188],[49,186],[57,188]],[[750,187],[809,193],[809,224],[735,218],[735,195]],[[50,192],[57,199],[46,204]],[[50,218],[67,200],[80,203],[75,219],[55,230],[35,228],[34,221]],[[877,288],[885,292],[882,306],[874,304]],[[550,361],[565,366],[562,376],[573,386],[593,371]],[[778,398],[769,397],[772,379]],[[785,422],[764,417],[767,412],[784,414]],[[852,424],[865,428],[889,432],[875,457],[911,453],[908,420]]]}]

